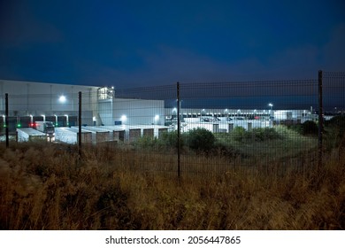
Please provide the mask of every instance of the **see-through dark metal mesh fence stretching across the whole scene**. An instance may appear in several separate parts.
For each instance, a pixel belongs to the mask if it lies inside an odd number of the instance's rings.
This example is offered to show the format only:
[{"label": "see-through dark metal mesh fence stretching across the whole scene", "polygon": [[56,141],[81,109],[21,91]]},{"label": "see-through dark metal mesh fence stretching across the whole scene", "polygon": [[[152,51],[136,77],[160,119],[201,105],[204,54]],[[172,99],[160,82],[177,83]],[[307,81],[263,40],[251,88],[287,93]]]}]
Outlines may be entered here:
[{"label": "see-through dark metal mesh fence stretching across the whole scene", "polygon": [[[344,113],[344,80],[345,74],[323,74],[325,120]],[[78,92],[12,94],[8,128],[18,141],[46,140],[50,122],[53,142],[81,139],[84,158],[97,150],[98,159],[123,170],[304,172],[318,163],[318,83],[180,82],[179,92],[176,84],[100,88],[81,92],[81,99]],[[4,120],[3,112],[2,135]]]}]

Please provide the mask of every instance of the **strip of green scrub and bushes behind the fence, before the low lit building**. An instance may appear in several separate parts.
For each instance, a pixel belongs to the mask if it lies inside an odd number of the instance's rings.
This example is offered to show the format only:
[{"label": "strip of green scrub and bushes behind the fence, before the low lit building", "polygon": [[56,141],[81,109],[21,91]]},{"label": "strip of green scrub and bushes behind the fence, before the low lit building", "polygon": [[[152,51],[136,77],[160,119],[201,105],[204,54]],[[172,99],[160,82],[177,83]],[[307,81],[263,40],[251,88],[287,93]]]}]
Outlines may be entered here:
[{"label": "strip of green scrub and bushes behind the fence, before the low lit building", "polygon": [[[143,136],[134,145],[149,151],[177,151],[177,131],[166,132],[159,139]],[[274,128],[235,127],[230,133],[213,134],[204,128],[191,129],[181,134],[180,146],[185,154],[208,154],[230,157],[271,156],[280,153],[292,156],[310,151],[317,146],[316,136],[302,136],[295,129],[278,126]],[[276,158],[276,156],[274,156]]]}]

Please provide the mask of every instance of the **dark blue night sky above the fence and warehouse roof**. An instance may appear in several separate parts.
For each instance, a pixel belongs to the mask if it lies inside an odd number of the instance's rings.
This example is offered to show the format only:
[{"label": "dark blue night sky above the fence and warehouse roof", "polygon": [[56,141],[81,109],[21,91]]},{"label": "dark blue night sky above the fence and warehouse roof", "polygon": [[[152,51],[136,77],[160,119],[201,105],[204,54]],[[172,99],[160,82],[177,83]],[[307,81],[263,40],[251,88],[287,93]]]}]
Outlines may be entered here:
[{"label": "dark blue night sky above the fence and warehouse roof", "polygon": [[345,4],[0,1],[0,79],[119,88],[345,70]]}]

